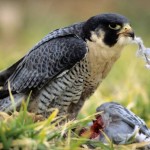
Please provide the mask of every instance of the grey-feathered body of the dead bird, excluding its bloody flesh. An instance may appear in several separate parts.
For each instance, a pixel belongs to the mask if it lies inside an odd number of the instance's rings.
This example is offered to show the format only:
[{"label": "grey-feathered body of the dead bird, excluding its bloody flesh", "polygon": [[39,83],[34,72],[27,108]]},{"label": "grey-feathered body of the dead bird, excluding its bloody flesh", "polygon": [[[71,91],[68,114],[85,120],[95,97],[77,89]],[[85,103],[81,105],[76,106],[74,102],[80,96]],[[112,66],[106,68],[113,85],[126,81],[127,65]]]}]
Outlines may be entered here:
[{"label": "grey-feathered body of the dead bird, excluding its bloody flesh", "polygon": [[[102,130],[113,143],[150,141],[150,130],[144,120],[122,105],[107,102],[99,106],[96,111],[102,112],[97,118],[100,117],[103,124]],[[108,142],[103,133],[99,136],[99,140]]]}]

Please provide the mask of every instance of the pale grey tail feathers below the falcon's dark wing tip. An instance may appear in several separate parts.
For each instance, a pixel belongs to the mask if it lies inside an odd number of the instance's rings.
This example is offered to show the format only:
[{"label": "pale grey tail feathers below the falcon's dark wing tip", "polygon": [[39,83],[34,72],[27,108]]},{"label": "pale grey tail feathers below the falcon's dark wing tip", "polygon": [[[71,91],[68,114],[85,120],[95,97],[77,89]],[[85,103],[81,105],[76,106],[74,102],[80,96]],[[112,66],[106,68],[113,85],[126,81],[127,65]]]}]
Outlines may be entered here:
[{"label": "pale grey tail feathers below the falcon's dark wing tip", "polygon": [[22,100],[25,99],[25,95],[24,94],[15,94],[13,95],[14,97],[14,104],[12,103],[12,100],[10,99],[10,97],[6,97],[4,99],[0,100],[0,111],[4,111],[4,112],[10,112],[13,110],[14,107],[18,107],[21,105]]}]

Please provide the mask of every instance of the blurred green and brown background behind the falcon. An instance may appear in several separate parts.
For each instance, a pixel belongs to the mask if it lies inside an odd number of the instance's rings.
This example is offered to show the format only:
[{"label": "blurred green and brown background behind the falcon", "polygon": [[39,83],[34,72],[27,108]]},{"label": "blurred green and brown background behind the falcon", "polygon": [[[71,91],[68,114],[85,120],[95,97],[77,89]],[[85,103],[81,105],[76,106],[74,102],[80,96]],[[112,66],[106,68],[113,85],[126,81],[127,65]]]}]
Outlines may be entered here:
[{"label": "blurred green and brown background behind the falcon", "polygon": [[[149,7],[149,0],[0,0],[0,69],[21,58],[50,31],[104,12],[129,18],[136,35],[150,47]],[[136,45],[124,49],[79,117],[94,113],[103,102],[117,101],[150,127],[150,70],[136,57],[136,49]]]}]

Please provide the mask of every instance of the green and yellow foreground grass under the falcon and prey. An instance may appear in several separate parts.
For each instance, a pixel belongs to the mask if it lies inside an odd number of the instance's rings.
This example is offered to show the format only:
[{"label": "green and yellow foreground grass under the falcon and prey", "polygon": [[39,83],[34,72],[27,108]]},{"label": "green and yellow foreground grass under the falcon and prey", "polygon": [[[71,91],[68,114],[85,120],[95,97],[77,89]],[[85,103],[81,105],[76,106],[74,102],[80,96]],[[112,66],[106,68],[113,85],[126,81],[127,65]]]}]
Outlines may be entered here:
[{"label": "green and yellow foreground grass under the falcon and prey", "polygon": [[[40,118],[27,112],[26,104],[23,103],[19,112],[14,111],[12,116],[0,113],[0,149],[88,149],[95,147],[102,150],[135,149],[146,145],[146,143],[117,146],[111,141],[107,145],[99,141],[89,140],[79,137],[78,131],[85,127],[95,114],[84,119],[69,121],[59,125],[62,118],[57,117],[56,109],[46,120],[35,122],[35,118]],[[57,124],[57,126],[56,126]],[[76,128],[75,131],[72,129]]]}]

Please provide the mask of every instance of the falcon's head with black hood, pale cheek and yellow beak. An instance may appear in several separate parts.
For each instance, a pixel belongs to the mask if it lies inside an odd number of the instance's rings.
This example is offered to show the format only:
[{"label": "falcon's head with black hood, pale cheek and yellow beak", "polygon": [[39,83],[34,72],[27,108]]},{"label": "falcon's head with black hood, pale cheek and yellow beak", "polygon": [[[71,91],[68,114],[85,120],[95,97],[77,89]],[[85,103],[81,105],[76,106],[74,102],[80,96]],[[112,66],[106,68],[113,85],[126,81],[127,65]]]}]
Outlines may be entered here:
[{"label": "falcon's head with black hood, pale cheek and yellow beak", "polygon": [[114,13],[91,17],[85,22],[83,33],[85,40],[96,42],[101,47],[124,46],[134,39],[128,19]]}]

